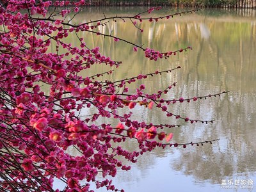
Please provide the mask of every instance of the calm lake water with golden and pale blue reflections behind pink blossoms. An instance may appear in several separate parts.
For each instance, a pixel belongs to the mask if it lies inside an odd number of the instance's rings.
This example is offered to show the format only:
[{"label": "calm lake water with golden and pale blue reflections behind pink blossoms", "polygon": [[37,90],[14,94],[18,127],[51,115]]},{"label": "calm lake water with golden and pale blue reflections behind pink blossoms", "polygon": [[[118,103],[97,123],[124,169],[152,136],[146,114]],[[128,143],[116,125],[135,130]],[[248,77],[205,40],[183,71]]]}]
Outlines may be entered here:
[{"label": "calm lake water with golden and pale blue reflections behind pink blossoms", "polygon": [[[72,22],[97,20],[103,17],[103,12],[106,16],[135,15],[143,10],[145,8],[90,8],[77,15]],[[153,16],[179,11],[163,8]],[[124,42],[90,33],[79,35],[84,37],[88,47],[99,46],[102,54],[123,61],[109,76],[111,80],[181,67],[171,73],[131,84],[130,92],[141,83],[145,84],[148,93],[153,93],[173,82],[177,82],[177,86],[166,98],[191,98],[224,90],[230,92],[221,97],[170,106],[177,115],[200,120],[214,119],[213,124],[185,124],[184,121],[167,118],[156,108],[152,111],[140,106],[132,109],[134,119],[181,125],[170,130],[174,134],[173,143],[220,140],[212,145],[166,147],[148,152],[140,157],[138,163],[130,164],[131,171],[118,171],[113,178],[115,186],[125,191],[147,192],[256,191],[255,10],[200,10],[173,19],[141,22],[139,26],[143,33],[134,29],[129,20],[109,21],[104,28],[100,28],[100,32],[162,52],[188,46],[193,50],[155,62],[147,60],[143,51],[135,53],[133,46]],[[67,41],[77,44],[76,36],[68,37]],[[91,76],[111,69],[114,68],[98,65],[83,75]],[[83,111],[84,115],[92,112]],[[124,147],[137,148],[135,141],[126,143]]]}]

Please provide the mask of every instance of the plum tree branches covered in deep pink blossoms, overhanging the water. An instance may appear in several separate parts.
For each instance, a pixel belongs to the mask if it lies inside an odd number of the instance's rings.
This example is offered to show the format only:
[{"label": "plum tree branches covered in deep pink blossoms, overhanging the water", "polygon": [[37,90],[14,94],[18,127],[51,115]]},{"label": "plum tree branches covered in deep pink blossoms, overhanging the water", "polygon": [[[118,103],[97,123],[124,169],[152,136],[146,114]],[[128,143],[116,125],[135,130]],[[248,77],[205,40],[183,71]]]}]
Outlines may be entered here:
[{"label": "plum tree branches covered in deep pink blossoms, overhanging the water", "polygon": [[[164,100],[163,95],[175,83],[152,94],[145,92],[144,84],[136,90],[130,90],[130,93],[125,86],[126,83],[141,81],[180,67],[160,72],[156,70],[120,81],[95,81],[95,76],[108,76],[113,70],[91,77],[79,75],[79,72],[92,65],[122,65],[121,61],[102,55],[99,47],[87,47],[82,37],[77,36],[81,42],[80,47],[64,42],[68,35],[78,34],[79,31],[96,33],[93,29],[108,19],[105,17],[79,25],[65,20],[68,14],[76,15],[86,4],[84,0],[74,3],[9,0],[3,1],[0,7],[0,24],[4,28],[0,31],[1,191],[54,191],[53,182],[56,179],[65,183],[62,189],[56,191],[90,191],[92,183],[95,183],[96,188],[118,191],[106,176],[115,177],[118,169],[131,169],[125,162],[118,160],[118,156],[136,163],[138,156],[156,147],[185,148],[187,145],[203,145],[215,141],[172,143],[172,131],[166,132],[163,128],[179,125],[154,125],[131,118],[134,108],[153,110],[156,107],[166,116],[182,118],[186,122],[212,122],[175,115],[167,106],[175,102],[197,102],[198,99],[221,93]],[[50,12],[49,6],[60,6],[63,9],[58,13]],[[145,13],[153,10],[159,10],[159,7],[150,8]],[[152,20],[150,17],[141,18],[141,14],[110,19]],[[172,16],[166,15],[161,19]],[[104,36],[125,41],[111,35]],[[141,49],[147,58],[156,61],[191,49],[187,47],[161,53],[128,43],[134,46],[134,51]],[[55,52],[47,51],[52,45],[56,46]],[[61,53],[60,49],[63,50]],[[42,90],[42,84],[49,87],[49,92]],[[93,108],[97,112],[81,115],[83,108]],[[128,108],[129,113],[120,113],[122,108]],[[119,123],[104,124],[100,118],[113,118]],[[130,151],[113,145],[127,140],[136,141],[139,149]],[[76,149],[77,155],[68,153],[71,147]],[[99,174],[103,179],[97,177]]]}]

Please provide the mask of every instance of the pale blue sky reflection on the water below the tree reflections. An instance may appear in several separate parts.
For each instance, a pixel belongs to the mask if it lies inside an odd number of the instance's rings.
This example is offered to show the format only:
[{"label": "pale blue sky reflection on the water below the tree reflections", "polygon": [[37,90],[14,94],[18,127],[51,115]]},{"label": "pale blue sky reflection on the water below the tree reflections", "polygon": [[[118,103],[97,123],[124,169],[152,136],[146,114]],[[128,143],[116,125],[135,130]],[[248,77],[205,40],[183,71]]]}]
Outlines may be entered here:
[{"label": "pale blue sky reflection on the water below the tree reflections", "polygon": [[[248,180],[256,182],[256,175],[234,175],[234,177],[220,178],[220,183],[212,184],[205,180],[196,180],[193,172],[184,175],[182,172],[172,170],[172,161],[176,161],[175,156],[179,156],[179,150],[175,154],[168,154],[164,158],[156,158],[154,166],[148,164],[147,172],[137,170],[136,165],[132,166],[129,172],[122,172],[113,179],[116,188],[125,186],[125,191],[198,191],[198,192],[216,192],[216,191],[234,191],[234,189],[221,189],[221,180]],[[140,159],[143,161],[143,158]],[[204,170],[202,170],[203,172]],[[255,186],[255,185],[254,185]],[[233,187],[233,186],[232,186]],[[240,186],[238,186],[240,188]],[[106,191],[106,189],[97,189],[97,191]],[[247,189],[237,189],[238,192],[253,191]]]}]

